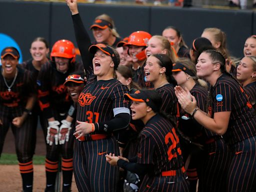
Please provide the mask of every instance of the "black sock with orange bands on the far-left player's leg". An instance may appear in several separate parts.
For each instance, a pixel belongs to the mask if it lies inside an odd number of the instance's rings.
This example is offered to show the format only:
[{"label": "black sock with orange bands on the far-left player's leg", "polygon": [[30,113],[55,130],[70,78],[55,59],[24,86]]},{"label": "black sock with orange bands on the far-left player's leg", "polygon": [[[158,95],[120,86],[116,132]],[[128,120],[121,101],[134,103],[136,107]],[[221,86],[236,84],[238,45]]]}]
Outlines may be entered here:
[{"label": "black sock with orange bands on the far-left player's leg", "polygon": [[33,189],[33,162],[19,162],[19,171],[22,177],[22,188],[24,191]]}]

